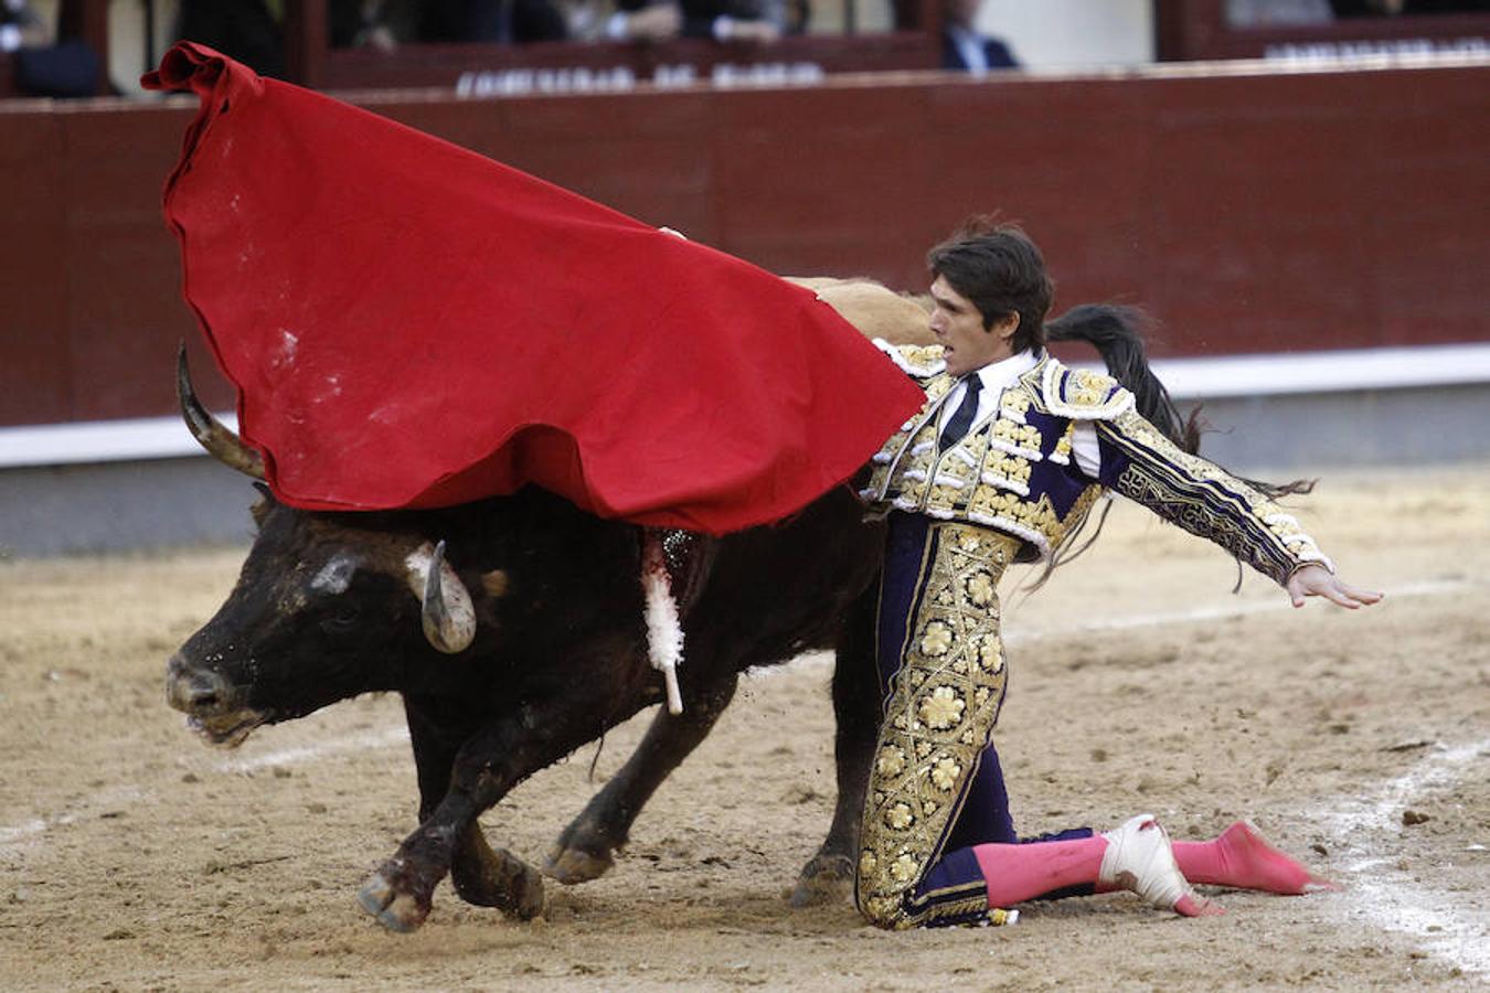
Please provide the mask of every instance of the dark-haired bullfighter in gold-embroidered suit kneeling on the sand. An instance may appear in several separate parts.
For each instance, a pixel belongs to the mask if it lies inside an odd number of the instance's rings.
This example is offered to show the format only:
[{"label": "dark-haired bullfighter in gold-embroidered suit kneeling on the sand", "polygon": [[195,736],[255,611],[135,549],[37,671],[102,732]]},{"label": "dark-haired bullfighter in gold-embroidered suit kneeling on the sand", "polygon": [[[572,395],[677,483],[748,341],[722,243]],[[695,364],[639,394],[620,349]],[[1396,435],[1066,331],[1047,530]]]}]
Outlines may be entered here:
[{"label": "dark-haired bullfighter in gold-embroidered suit kneeling on the sand", "polygon": [[1052,283],[1018,228],[971,222],[928,256],[936,345],[884,342],[927,402],[873,459],[861,497],[888,517],[878,615],[882,724],[855,896],[885,927],[1006,923],[1034,898],[1131,889],[1185,916],[1220,913],[1192,883],[1280,893],[1328,886],[1238,822],[1171,843],[1150,814],[1021,840],[992,744],[1006,660],[997,587],[1050,560],[1106,491],[1208,537],[1295,606],[1354,590],[1298,521],[1189,454],[1134,393],[1044,351]]}]

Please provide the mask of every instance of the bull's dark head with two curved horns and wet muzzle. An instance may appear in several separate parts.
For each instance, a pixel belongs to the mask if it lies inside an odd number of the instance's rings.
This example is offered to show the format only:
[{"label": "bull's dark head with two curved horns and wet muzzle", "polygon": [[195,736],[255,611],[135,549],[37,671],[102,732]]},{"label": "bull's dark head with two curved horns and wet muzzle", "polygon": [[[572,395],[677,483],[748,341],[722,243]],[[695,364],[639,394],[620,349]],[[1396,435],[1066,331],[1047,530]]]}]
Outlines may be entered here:
[{"label": "bull's dark head with two curved horns and wet muzzle", "polygon": [[[182,414],[219,462],[258,479],[256,451],[197,400],[177,363]],[[261,484],[258,539],[222,609],[171,658],[167,698],[218,744],[267,721],[372,689],[431,648],[466,651],[477,613],[466,585],[417,515],[310,514]],[[492,578],[483,585],[490,590]]]}]

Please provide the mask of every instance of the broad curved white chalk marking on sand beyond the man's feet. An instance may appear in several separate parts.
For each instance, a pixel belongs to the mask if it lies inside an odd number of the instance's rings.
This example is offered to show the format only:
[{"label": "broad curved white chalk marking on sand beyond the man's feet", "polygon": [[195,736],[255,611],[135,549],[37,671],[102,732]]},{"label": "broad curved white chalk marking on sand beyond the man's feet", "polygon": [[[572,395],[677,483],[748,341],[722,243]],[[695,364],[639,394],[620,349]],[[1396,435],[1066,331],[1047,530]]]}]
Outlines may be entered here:
[{"label": "broad curved white chalk marking on sand beyond the man's feet", "polygon": [[[1468,974],[1490,977],[1490,905],[1477,893],[1423,886],[1398,868],[1392,853],[1402,835],[1402,811],[1426,794],[1442,794],[1466,779],[1475,761],[1490,761],[1490,738],[1445,747],[1402,776],[1359,796],[1338,796],[1307,811],[1353,861],[1347,890],[1335,905],[1366,916],[1386,930],[1411,935],[1429,951]],[[1487,773],[1481,771],[1480,776]]]}]

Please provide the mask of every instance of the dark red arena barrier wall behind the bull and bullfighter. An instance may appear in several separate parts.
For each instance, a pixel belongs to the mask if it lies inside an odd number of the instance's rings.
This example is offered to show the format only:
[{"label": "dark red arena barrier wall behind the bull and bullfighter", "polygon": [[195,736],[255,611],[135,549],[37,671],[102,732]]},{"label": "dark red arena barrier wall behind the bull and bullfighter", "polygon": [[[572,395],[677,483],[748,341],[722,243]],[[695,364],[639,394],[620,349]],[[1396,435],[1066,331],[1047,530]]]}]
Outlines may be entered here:
[{"label": "dark red arena barrier wall behind the bull and bullfighter", "polygon": [[[781,272],[919,287],[928,244],[1001,210],[1044,247],[1058,310],[1143,304],[1155,353],[1222,354],[1490,336],[1487,83],[924,73],[361,101]],[[0,424],[167,414],[180,338],[209,378],[158,202],[189,112],[0,104]]]}]

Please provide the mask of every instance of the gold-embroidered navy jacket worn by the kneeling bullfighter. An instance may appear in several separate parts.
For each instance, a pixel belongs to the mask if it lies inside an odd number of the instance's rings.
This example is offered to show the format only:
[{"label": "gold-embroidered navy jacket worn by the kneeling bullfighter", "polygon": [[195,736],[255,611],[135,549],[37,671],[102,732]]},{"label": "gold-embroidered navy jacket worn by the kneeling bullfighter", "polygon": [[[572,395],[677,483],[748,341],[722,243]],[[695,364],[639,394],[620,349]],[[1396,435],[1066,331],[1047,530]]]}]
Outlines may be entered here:
[{"label": "gold-embroidered navy jacket worn by the kneeling bullfighter", "polygon": [[[1207,537],[1280,585],[1308,563],[1334,564],[1298,521],[1219,466],[1180,450],[1134,409],[1116,380],[1070,369],[1042,354],[1003,390],[991,415],[945,453],[937,420],[955,380],[940,345],[888,345],[885,353],[927,393],[927,403],[879,450],[860,496],[900,509],[967,521],[1024,542],[1021,558],[1061,546],[1104,488]],[[1101,450],[1092,479],[1073,463],[1071,438],[1091,421]]]}]

